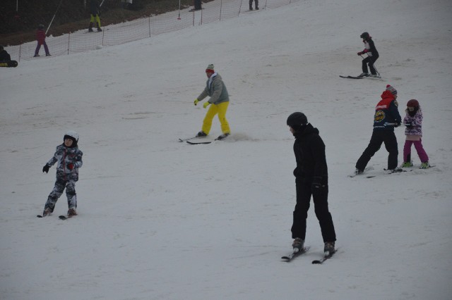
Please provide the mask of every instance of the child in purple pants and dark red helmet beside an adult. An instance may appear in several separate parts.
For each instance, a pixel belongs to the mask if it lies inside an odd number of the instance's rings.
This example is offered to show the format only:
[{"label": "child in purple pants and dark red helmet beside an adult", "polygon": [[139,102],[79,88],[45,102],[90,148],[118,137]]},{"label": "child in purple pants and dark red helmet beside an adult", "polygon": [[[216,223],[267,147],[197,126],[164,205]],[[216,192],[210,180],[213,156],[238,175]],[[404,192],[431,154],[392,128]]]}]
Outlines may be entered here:
[{"label": "child in purple pants and dark red helmet beside an adult", "polygon": [[415,144],[417,155],[421,160],[421,169],[430,168],[429,156],[425,153],[422,146],[422,110],[416,99],[408,101],[406,115],[403,118],[403,124],[406,126],[405,146],[403,146],[403,164],[402,168],[412,167],[411,161],[411,145]]}]

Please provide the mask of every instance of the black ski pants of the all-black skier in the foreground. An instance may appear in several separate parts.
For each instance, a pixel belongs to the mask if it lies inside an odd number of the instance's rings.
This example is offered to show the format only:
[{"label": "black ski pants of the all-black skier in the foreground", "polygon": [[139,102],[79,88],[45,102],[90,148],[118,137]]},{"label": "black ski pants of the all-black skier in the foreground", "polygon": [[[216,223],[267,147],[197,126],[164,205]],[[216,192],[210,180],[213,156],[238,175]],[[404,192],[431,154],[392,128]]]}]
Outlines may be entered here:
[{"label": "black ski pants of the all-black skier in the foreground", "polygon": [[319,220],[323,242],[335,242],[336,234],[333,218],[328,211],[328,185],[324,187],[311,187],[311,182],[295,182],[297,188],[297,204],[295,205],[294,220],[292,224],[292,239],[297,237],[306,239],[306,220],[311,202],[314,201],[314,212]]}]

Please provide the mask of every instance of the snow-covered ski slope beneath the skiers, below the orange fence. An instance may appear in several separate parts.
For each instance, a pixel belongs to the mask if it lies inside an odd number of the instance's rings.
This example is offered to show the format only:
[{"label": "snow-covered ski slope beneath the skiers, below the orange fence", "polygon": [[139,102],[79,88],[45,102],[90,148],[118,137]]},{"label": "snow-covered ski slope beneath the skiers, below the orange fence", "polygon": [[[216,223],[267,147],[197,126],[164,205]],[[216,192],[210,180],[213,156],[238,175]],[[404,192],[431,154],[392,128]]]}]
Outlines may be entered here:
[{"label": "snow-covered ski slope beneath the skiers, below the orange fence", "polygon": [[[0,70],[0,299],[450,299],[452,3],[307,0],[97,51]],[[368,31],[383,80],[361,73]],[[189,146],[214,63],[232,136]],[[387,84],[424,113],[432,165],[347,177]],[[326,143],[338,254],[314,208],[309,253],[291,250],[293,137],[306,113]],[[66,130],[84,153],[76,218],[42,213]],[[212,137],[220,135],[215,119]],[[403,128],[396,129],[399,162]],[[419,158],[412,149],[416,166]]]}]

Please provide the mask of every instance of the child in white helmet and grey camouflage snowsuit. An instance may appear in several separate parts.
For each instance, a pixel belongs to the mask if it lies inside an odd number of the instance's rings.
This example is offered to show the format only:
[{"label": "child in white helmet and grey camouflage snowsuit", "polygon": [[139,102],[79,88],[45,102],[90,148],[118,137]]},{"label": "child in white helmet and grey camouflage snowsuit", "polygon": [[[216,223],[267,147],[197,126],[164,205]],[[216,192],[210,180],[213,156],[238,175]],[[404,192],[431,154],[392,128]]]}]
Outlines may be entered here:
[{"label": "child in white helmet and grey camouflage snowsuit", "polygon": [[78,149],[77,132],[72,130],[66,132],[63,140],[64,143],[57,146],[54,156],[42,168],[43,173],[48,173],[49,168],[58,162],[57,181],[47,198],[44,213],[42,213],[43,217],[54,211],[55,204],[57,204],[59,197],[63,194],[65,187],[68,198],[68,216],[71,217],[77,214],[76,182],[78,181],[78,168],[83,165],[83,152]]}]

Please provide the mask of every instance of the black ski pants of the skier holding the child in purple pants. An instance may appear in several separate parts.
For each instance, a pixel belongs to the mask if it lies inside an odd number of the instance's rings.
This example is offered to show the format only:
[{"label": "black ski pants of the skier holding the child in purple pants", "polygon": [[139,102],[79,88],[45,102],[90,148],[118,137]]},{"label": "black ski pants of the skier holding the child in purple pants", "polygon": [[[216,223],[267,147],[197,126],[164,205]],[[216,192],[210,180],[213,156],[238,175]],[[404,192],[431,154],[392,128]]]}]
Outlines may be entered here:
[{"label": "black ski pants of the skier holding the child in purple pants", "polygon": [[358,170],[364,170],[366,168],[367,163],[369,163],[370,158],[376,154],[376,151],[379,151],[381,144],[384,143],[386,150],[389,152],[388,156],[388,169],[392,170],[397,168],[397,156],[398,156],[398,147],[397,147],[397,138],[393,131],[388,130],[375,130],[372,132],[372,136],[370,138],[369,146],[364,150],[361,157],[359,157],[356,168]]}]

